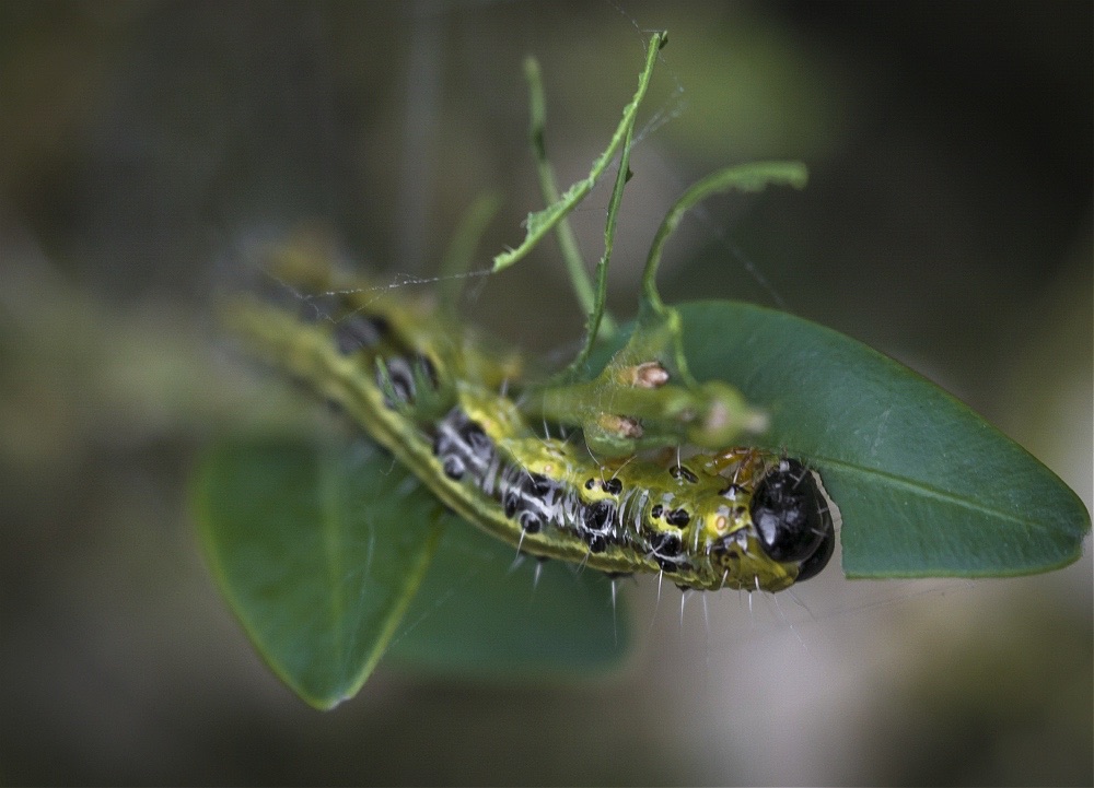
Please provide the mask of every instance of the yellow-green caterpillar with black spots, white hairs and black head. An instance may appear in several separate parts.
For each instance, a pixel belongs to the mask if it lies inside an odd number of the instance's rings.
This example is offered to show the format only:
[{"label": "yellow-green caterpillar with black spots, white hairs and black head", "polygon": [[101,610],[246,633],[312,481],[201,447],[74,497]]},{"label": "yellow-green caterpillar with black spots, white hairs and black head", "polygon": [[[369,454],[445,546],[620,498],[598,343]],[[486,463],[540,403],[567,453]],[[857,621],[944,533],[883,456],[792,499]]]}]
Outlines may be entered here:
[{"label": "yellow-green caterpillar with black spots, white hairs and black head", "polygon": [[801,461],[748,447],[596,461],[522,415],[519,355],[314,255],[279,261],[279,292],[230,299],[229,328],[521,552],[700,590],[778,591],[831,557],[833,517]]}]

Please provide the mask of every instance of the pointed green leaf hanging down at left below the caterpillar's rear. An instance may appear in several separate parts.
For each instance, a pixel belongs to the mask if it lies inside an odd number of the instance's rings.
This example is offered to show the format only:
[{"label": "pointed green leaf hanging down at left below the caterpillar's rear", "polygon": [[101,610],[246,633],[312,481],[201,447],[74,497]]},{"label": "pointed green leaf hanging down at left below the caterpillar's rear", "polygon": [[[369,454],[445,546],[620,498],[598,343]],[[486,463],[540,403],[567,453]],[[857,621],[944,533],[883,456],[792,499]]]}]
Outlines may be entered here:
[{"label": "pointed green leaf hanging down at left below the caterpillar's rear", "polygon": [[442,531],[440,505],[364,442],[226,443],[200,469],[195,509],[233,612],[317,708],[364,683]]}]

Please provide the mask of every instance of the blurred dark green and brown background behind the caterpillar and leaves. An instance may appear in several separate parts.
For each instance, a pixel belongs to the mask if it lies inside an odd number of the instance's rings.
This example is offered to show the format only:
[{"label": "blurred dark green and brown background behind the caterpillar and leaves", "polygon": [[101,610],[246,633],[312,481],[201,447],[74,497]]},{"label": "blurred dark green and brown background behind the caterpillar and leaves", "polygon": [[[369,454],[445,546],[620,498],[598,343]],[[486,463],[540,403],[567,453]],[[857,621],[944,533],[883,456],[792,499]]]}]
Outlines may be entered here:
[{"label": "blurred dark green and brown background behind the caterpillar and leaves", "polygon": [[[612,306],[709,170],[810,188],[707,203],[668,301],[846,331],[973,404],[1092,501],[1092,8],[1064,2],[0,4],[0,781],[1086,784],[1092,563],[1015,580],[630,597],[614,678],[384,669],[321,715],[217,597],[186,479],[282,390],[225,352],[240,249],[326,223],[384,281],[428,275],[469,201],[583,175],[671,32],[632,158]],[[600,254],[606,189],[574,217]],[[536,351],[580,336],[554,248],[474,280]],[[534,602],[534,598],[533,598]],[[443,615],[443,605],[439,607]],[[502,647],[499,645],[499,647]]]}]

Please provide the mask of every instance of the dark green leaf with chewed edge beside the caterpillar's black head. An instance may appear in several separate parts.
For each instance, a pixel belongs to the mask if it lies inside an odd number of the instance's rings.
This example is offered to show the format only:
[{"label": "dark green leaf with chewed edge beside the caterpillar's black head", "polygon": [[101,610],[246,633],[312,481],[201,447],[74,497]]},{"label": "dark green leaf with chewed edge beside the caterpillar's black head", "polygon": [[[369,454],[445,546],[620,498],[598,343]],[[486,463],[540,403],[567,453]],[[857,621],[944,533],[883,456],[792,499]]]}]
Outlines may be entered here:
[{"label": "dark green leaf with chewed edge beside the caterpillar's black head", "polygon": [[679,307],[699,379],[764,408],[756,442],[806,458],[842,515],[850,577],[1046,572],[1091,519],[1025,449],[907,367],[836,331],[735,302]]}]

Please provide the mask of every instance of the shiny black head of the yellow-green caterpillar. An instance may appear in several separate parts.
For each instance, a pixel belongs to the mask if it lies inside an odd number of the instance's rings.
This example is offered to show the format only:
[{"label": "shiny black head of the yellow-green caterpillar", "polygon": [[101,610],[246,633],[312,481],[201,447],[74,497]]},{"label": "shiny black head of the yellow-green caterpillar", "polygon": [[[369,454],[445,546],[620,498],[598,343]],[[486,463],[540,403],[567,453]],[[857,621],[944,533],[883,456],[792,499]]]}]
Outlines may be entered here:
[{"label": "shiny black head of the yellow-green caterpillar", "polygon": [[782,459],[753,491],[752,520],[760,546],[778,562],[796,562],[798,581],[825,567],[836,548],[836,529],[813,474]]}]

